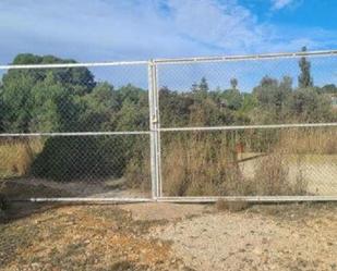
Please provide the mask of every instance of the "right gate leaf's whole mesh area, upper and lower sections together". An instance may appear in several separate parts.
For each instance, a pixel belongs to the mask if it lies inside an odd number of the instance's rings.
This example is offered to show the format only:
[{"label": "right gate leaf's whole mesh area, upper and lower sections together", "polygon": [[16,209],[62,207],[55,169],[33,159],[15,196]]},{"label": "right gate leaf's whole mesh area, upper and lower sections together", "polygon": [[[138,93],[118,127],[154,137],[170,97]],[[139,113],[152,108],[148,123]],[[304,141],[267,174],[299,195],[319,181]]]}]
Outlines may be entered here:
[{"label": "right gate leaf's whole mesh area, upper and lower sections together", "polygon": [[165,199],[337,196],[335,54],[157,65]]}]

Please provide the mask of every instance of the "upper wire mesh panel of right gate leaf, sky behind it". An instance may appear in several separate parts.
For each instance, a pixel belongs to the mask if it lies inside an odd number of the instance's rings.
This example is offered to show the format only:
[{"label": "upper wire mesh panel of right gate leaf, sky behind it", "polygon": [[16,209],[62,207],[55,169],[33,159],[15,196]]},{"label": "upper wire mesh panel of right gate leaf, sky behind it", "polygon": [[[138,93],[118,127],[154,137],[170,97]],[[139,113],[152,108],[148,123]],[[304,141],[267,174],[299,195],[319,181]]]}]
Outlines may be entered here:
[{"label": "upper wire mesh panel of right gate leaf, sky behind it", "polygon": [[161,127],[336,122],[337,57],[158,63]]}]

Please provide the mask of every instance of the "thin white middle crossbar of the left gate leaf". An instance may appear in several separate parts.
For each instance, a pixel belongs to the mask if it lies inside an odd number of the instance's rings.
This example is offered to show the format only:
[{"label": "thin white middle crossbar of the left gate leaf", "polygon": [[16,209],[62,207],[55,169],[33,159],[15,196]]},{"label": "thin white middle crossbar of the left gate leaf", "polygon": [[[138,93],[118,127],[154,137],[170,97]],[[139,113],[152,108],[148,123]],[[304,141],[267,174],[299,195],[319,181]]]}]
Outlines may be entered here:
[{"label": "thin white middle crossbar of the left gate leaf", "polygon": [[103,135],[149,135],[149,131],[131,132],[72,132],[72,133],[4,133],[0,137],[34,137],[34,136],[103,136]]}]

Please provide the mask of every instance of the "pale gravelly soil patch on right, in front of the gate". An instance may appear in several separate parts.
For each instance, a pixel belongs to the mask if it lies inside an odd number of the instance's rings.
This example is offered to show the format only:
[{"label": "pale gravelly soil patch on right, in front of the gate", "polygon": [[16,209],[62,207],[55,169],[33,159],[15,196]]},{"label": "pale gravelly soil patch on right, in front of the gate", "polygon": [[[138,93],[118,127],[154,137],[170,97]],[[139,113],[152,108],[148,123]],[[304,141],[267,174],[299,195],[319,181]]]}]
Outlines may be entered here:
[{"label": "pale gravelly soil patch on right, in front of the gate", "polygon": [[203,214],[151,236],[172,242],[174,255],[195,270],[337,270],[336,206],[297,208]]}]

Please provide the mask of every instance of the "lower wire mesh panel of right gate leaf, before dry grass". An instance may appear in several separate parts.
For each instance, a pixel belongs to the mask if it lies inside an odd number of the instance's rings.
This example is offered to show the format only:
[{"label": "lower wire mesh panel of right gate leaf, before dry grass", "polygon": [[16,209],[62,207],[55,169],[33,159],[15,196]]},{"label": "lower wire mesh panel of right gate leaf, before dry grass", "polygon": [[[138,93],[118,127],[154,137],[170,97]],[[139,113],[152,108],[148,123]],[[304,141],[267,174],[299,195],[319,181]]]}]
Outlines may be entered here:
[{"label": "lower wire mesh panel of right gate leaf, before dry grass", "polygon": [[336,196],[337,127],[161,133],[164,196]]}]

